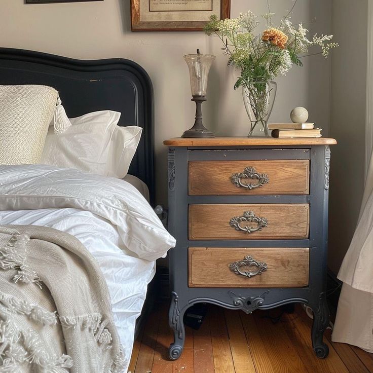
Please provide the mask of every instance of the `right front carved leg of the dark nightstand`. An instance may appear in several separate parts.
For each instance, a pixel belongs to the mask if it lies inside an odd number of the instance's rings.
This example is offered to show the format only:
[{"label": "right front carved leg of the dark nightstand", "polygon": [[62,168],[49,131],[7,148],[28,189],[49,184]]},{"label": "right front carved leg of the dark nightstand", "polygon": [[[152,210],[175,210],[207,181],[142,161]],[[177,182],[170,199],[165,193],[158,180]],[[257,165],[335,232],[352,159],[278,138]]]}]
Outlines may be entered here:
[{"label": "right front carved leg of the dark nightstand", "polygon": [[313,324],[312,324],[312,347],[316,352],[316,356],[320,359],[325,358],[329,354],[329,347],[322,341],[324,331],[329,325],[329,309],[326,303],[326,294],[322,292],[319,298],[319,304],[312,307]]}]

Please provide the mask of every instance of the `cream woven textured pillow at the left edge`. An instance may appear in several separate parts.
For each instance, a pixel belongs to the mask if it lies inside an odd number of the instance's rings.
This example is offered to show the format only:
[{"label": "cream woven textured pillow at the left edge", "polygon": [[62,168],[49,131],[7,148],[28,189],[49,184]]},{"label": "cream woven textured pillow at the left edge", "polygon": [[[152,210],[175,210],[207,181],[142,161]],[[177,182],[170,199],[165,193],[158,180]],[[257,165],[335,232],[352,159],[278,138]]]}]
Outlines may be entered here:
[{"label": "cream woven textured pillow at the left edge", "polygon": [[0,86],[1,165],[40,162],[57,97],[47,86]]}]

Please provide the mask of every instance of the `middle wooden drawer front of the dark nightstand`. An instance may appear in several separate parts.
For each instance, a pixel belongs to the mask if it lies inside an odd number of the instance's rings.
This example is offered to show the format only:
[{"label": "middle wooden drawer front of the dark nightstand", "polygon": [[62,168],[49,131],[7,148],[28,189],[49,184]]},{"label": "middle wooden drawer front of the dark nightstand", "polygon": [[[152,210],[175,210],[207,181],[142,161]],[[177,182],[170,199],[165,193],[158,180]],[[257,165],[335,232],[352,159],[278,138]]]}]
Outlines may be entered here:
[{"label": "middle wooden drawer front of the dark nightstand", "polygon": [[306,239],[309,212],[307,203],[189,205],[189,239]]}]

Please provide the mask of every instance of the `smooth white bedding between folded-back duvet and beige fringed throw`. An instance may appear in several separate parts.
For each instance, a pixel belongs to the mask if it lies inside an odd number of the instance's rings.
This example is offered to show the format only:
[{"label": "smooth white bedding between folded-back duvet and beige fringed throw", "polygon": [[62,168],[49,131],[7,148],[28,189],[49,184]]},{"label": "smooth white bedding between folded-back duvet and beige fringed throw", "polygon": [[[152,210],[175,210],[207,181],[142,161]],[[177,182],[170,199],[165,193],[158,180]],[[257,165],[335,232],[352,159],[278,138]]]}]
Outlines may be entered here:
[{"label": "smooth white bedding between folded-back duvet and beige fringed throw", "polygon": [[85,245],[97,259],[107,282],[114,321],[129,362],[135,321],[145,301],[147,284],[155,274],[155,262],[123,249],[115,226],[89,211],[74,208],[0,211],[0,224],[54,228],[75,236]]}]

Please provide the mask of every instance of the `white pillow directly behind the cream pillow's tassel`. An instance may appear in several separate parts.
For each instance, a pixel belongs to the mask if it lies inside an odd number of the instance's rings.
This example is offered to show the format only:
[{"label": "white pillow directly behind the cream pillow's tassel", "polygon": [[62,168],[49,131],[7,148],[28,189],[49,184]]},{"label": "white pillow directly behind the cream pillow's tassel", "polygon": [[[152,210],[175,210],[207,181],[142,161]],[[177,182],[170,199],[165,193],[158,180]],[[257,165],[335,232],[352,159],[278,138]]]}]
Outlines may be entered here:
[{"label": "white pillow directly behind the cream pillow's tassel", "polygon": [[105,175],[110,140],[120,116],[111,110],[88,113],[70,119],[71,126],[59,134],[51,126],[40,163]]}]

